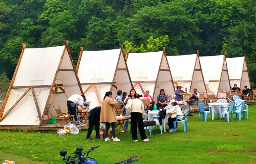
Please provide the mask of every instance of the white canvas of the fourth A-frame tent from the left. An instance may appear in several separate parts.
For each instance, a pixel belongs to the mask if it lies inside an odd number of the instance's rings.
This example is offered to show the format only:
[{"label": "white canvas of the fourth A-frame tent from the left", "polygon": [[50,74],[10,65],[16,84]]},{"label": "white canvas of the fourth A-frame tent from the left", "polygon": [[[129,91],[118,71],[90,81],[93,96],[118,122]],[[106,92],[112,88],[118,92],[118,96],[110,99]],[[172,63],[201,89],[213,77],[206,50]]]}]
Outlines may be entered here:
[{"label": "white canvas of the fourth A-frame tent from the left", "polygon": [[198,92],[204,92],[206,88],[198,54],[167,56],[171,68],[172,79],[175,86],[181,84],[183,90],[193,93],[196,88]]}]

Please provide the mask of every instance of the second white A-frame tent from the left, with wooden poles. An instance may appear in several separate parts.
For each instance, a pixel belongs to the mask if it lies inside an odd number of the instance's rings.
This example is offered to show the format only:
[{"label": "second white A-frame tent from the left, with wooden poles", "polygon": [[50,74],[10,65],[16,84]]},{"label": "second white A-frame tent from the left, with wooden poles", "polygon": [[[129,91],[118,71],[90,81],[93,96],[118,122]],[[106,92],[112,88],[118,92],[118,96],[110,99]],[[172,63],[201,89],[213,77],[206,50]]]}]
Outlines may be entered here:
[{"label": "second white A-frame tent from the left, with wooden poles", "polygon": [[76,70],[92,107],[101,106],[108,91],[115,96],[117,90],[129,92],[132,89],[123,45],[119,49],[102,51],[83,51],[81,47]]}]

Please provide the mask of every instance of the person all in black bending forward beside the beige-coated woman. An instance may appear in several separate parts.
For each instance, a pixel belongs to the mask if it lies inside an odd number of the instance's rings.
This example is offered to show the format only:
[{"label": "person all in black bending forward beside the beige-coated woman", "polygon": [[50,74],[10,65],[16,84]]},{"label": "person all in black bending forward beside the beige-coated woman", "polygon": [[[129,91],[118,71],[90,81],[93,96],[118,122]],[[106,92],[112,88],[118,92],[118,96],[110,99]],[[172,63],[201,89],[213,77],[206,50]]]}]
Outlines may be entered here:
[{"label": "person all in black bending forward beside the beige-coated woman", "polygon": [[87,131],[87,136],[86,139],[92,139],[91,134],[92,134],[92,129],[93,126],[95,126],[95,134],[96,134],[96,139],[100,138],[99,136],[99,131],[100,131],[100,109],[101,107],[95,107],[89,112],[89,128]]}]

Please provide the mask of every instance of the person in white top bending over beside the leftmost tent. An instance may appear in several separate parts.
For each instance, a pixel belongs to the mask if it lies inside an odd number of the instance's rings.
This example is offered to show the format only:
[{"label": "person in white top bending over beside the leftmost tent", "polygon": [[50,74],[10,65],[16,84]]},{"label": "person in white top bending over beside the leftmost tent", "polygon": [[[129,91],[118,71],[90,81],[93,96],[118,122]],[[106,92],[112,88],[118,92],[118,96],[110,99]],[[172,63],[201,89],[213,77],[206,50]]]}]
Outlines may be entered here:
[{"label": "person in white top bending over beside the leftmost tent", "polygon": [[[80,124],[80,122],[77,119],[78,118],[77,105],[79,105],[81,108],[84,108],[84,104],[83,104],[84,101],[85,101],[85,96],[79,95],[79,94],[73,94],[68,98],[68,101],[67,101],[68,111],[70,112],[70,115],[75,115],[74,118],[77,124]],[[70,121],[72,122],[73,120],[70,120]]]}]

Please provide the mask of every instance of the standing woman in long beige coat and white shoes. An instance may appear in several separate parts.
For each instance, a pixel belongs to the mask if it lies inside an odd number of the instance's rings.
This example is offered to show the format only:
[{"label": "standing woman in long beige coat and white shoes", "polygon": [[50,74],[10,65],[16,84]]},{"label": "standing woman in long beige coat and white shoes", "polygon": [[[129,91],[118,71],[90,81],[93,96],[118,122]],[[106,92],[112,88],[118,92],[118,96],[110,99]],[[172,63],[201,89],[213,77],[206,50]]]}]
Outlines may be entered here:
[{"label": "standing woman in long beige coat and white shoes", "polygon": [[112,92],[106,92],[104,99],[102,101],[102,105],[101,105],[101,111],[100,111],[100,123],[106,123],[106,139],[105,141],[110,141],[110,139],[108,138],[108,129],[110,127],[112,127],[112,135],[113,135],[113,141],[120,141],[120,139],[118,139],[116,137],[116,131],[115,131],[115,127],[116,127],[116,113],[114,110],[114,106],[118,105],[118,102],[116,102],[115,100],[111,99],[112,97]]}]

